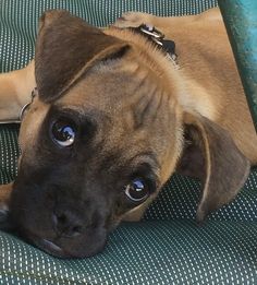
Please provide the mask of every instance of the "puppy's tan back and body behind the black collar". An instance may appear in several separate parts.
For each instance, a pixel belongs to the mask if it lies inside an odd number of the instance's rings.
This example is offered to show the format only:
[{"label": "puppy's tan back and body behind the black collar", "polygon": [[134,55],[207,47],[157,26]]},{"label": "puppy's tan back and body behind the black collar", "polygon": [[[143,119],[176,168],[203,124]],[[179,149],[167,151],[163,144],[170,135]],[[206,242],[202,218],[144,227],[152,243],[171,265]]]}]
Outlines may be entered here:
[{"label": "puppy's tan back and body behind the black collar", "polygon": [[[181,87],[178,94],[181,105],[227,129],[240,150],[256,164],[257,136],[219,10],[181,17],[128,13],[123,19],[115,25],[138,26],[140,23],[151,23],[167,38],[175,40],[181,66],[181,71],[178,72],[181,73],[178,82]],[[133,38],[130,40],[133,41]],[[137,38],[134,44],[139,43]],[[140,48],[148,51],[144,44]],[[152,59],[155,58],[154,56]],[[159,62],[169,69],[169,62]]]}]

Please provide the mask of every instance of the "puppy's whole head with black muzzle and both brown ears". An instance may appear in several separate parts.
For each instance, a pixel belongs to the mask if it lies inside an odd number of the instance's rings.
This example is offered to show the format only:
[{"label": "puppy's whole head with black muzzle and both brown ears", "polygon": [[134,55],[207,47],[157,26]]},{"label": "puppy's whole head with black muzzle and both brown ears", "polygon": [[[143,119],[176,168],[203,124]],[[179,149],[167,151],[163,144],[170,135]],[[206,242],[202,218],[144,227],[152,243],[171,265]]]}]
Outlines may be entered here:
[{"label": "puppy's whole head with black muzzle and both brown ears", "polygon": [[232,139],[184,112],[176,82],[163,83],[143,57],[66,12],[41,19],[38,96],[21,127],[10,209],[22,235],[51,254],[102,250],[108,233],[156,197],[180,157],[181,171],[203,178],[199,221],[245,181],[248,162]]}]

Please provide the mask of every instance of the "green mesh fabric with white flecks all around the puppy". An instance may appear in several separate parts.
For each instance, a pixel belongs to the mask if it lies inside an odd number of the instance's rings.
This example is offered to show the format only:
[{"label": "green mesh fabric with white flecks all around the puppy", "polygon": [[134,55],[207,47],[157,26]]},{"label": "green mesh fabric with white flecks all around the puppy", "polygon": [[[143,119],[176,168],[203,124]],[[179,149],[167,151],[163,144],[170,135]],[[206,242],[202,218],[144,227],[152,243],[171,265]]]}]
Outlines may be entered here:
[{"label": "green mesh fabric with white flecks all around the puppy", "polygon": [[[213,5],[211,0],[1,0],[0,69],[23,67],[33,57],[37,21],[47,9],[68,9],[103,26],[123,11],[179,15]],[[16,174],[17,132],[17,126],[0,126],[1,182]],[[89,259],[52,258],[1,233],[0,284],[257,284],[257,171],[203,227],[194,221],[198,199],[198,181],[173,176],[143,222],[119,226],[106,250]]]}]

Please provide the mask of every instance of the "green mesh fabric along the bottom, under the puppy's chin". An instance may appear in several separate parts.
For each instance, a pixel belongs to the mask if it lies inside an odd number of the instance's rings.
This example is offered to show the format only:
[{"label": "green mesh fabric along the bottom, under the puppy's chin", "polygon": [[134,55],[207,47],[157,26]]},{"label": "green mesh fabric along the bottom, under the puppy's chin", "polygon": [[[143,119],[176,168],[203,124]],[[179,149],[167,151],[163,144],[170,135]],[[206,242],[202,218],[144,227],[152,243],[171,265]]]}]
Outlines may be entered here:
[{"label": "green mesh fabric along the bottom, under the puppy's chin", "polygon": [[0,236],[1,284],[256,284],[257,224],[188,219],[123,224],[106,250],[61,260]]}]

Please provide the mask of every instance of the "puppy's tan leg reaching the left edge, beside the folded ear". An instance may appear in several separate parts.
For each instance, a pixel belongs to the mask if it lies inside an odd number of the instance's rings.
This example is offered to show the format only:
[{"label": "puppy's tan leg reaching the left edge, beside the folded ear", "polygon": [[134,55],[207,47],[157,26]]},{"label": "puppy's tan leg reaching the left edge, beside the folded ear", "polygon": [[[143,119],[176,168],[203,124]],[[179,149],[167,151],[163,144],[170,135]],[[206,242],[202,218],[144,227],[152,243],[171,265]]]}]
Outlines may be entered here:
[{"label": "puppy's tan leg reaching the left edge, beside the folded ear", "polygon": [[0,122],[19,119],[35,86],[34,60],[24,69],[0,74]]}]

